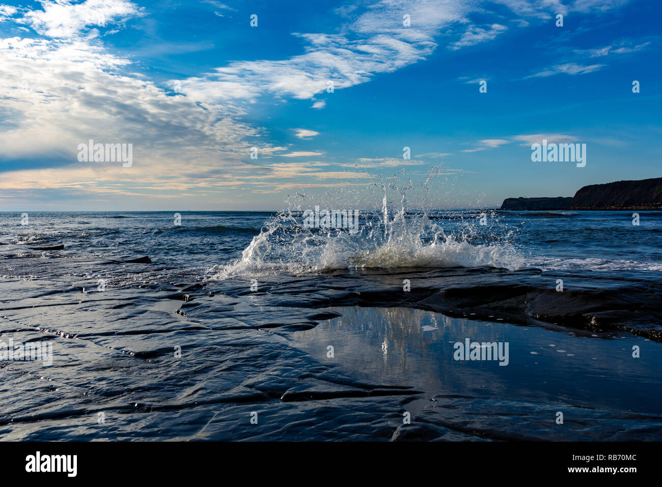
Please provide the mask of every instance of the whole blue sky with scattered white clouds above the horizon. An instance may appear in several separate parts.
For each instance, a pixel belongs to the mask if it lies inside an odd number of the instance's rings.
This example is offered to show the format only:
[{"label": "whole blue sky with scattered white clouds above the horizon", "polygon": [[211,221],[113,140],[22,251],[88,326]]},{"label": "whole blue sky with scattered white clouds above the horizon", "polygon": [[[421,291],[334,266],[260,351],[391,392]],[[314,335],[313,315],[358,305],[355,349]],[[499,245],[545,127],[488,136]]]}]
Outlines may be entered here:
[{"label": "whole blue sky with scattered white clouds above the horizon", "polygon": [[[0,3],[0,211],[279,209],[296,193],[324,206],[402,167],[423,180],[441,158],[436,207],[660,177],[661,11],[652,0]],[[543,138],[587,144],[587,165],[532,162]],[[79,161],[90,139],[132,144],[130,167]]]}]

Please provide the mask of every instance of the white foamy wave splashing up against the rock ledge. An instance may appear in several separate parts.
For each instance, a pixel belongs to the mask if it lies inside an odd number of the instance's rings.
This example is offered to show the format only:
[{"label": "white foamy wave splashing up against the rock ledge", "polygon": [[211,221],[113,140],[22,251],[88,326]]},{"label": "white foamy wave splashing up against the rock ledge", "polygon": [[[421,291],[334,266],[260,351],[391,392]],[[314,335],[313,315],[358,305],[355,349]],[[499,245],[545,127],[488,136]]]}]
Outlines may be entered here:
[{"label": "white foamy wave splashing up against the rock ledge", "polygon": [[[457,235],[420,215],[402,210],[363,217],[354,235],[344,229],[308,229],[301,217],[283,213],[267,222],[242,252],[242,258],[217,264],[207,280],[264,274],[306,274],[348,268],[494,267],[516,270],[524,265],[514,245],[503,237],[475,244],[475,222]],[[473,227],[472,227],[473,225]]]}]

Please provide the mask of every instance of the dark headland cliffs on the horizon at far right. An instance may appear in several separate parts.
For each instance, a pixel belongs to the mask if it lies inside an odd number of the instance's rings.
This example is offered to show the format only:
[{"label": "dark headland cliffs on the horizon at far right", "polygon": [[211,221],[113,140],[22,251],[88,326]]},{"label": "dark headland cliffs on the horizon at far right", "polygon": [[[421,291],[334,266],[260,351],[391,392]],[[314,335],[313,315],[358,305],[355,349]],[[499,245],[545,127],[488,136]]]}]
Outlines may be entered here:
[{"label": "dark headland cliffs on the horizon at far right", "polygon": [[662,178],[591,184],[573,197],[506,198],[501,209],[662,210]]}]

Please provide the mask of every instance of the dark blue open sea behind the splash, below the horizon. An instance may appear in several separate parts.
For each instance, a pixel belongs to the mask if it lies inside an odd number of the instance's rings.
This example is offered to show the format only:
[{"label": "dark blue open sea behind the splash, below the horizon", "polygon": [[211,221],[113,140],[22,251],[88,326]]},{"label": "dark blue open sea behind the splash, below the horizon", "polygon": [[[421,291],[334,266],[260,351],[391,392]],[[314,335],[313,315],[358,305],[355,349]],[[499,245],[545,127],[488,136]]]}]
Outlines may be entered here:
[{"label": "dark blue open sea behind the splash, below the horizon", "polygon": [[[515,267],[662,270],[662,212],[639,212],[639,225],[632,224],[633,212],[626,211],[487,211],[487,225],[479,225],[481,213],[429,211],[429,224],[473,245],[512,244],[512,262],[501,263]],[[173,212],[33,212],[28,213],[28,225],[21,225],[21,214],[0,214],[0,242],[23,245],[15,247],[23,252],[65,244],[62,252],[44,257],[150,254],[168,264],[201,270],[239,258],[275,215],[184,211],[175,225]],[[419,215],[408,214],[412,219]],[[301,220],[301,213],[295,216]],[[381,218],[380,212],[362,211],[361,227]],[[424,232],[418,235],[426,242]]]}]

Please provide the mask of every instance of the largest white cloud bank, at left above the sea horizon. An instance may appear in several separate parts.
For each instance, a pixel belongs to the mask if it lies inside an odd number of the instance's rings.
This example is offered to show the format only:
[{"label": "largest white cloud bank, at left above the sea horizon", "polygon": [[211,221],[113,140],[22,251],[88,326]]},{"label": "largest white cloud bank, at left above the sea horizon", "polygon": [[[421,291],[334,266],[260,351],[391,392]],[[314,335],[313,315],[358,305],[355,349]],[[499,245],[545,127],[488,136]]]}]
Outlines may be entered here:
[{"label": "largest white cloud bank, at left above the sea horizon", "polygon": [[[122,74],[128,68],[129,60],[87,38],[0,39],[0,156],[54,158],[58,164],[3,172],[5,194],[18,188],[181,191],[250,173],[242,160],[256,129],[217,107],[169,96],[152,81]],[[90,138],[133,144],[133,166],[78,162],[77,146]]]}]

